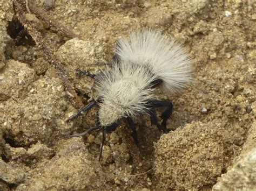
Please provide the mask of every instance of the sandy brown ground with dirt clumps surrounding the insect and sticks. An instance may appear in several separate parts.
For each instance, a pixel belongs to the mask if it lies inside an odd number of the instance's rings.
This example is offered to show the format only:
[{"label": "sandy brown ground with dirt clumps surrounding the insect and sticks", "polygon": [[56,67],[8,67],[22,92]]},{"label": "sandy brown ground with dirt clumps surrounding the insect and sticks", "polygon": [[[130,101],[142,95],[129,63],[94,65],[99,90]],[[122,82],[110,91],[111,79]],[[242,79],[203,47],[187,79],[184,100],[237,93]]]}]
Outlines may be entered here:
[{"label": "sandy brown ground with dirt clumps surrounding the insect and sticks", "polygon": [[97,108],[65,123],[77,109],[56,69],[31,39],[10,37],[14,10],[0,0],[1,190],[256,186],[254,1],[33,2],[79,35],[67,38],[33,17],[84,104],[97,96],[94,82],[74,70],[96,73],[111,60],[117,39],[143,27],[184,44],[194,58],[194,81],[182,94],[160,95],[174,105],[167,123],[174,131],[163,135],[149,117],[136,119],[139,152],[122,123],[106,136],[98,162],[99,132],[64,138],[95,125]]}]

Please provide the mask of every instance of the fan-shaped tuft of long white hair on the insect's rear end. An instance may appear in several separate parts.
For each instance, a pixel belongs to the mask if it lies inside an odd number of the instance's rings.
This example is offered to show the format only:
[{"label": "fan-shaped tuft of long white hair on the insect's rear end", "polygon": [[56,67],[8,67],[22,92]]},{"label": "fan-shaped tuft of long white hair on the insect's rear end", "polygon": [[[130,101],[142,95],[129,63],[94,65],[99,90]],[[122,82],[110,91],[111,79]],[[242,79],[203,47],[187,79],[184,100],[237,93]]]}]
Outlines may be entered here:
[{"label": "fan-shaped tuft of long white hair on the insect's rear end", "polygon": [[161,89],[176,93],[191,81],[191,57],[175,40],[158,32],[131,33],[130,41],[120,39],[116,53],[124,62],[146,65],[163,80]]}]

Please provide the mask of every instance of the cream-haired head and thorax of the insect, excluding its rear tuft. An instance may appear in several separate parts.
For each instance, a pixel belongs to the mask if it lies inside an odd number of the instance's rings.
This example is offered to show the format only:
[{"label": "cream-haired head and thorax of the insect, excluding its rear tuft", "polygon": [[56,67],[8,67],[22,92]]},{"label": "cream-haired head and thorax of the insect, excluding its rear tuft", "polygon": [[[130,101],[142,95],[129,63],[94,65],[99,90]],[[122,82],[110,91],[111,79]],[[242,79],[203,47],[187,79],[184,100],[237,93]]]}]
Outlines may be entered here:
[{"label": "cream-haired head and thorax of the insect, excluding its rear tuft", "polygon": [[121,117],[144,113],[147,103],[156,99],[151,87],[151,82],[156,79],[157,76],[143,66],[129,61],[112,63],[98,80],[98,94],[102,98],[100,124],[108,126]]}]

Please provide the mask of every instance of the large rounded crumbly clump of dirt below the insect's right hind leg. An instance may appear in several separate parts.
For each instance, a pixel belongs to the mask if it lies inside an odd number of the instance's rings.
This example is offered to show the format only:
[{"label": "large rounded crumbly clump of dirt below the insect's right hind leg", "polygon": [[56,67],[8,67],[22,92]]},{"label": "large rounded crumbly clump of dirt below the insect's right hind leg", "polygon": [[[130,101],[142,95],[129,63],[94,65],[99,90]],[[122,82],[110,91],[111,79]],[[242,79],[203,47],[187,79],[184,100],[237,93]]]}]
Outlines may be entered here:
[{"label": "large rounded crumbly clump of dirt below the insect's right hind leg", "polygon": [[154,169],[160,189],[212,185],[233,155],[233,136],[225,123],[217,120],[193,122],[161,136]]}]

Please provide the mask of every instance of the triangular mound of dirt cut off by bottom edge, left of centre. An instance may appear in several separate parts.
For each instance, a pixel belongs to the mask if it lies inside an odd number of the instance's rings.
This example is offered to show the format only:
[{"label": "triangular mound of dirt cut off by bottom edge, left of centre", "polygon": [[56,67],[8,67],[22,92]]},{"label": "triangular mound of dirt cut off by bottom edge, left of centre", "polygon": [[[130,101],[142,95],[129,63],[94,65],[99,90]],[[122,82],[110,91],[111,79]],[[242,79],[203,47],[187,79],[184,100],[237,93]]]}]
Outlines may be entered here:
[{"label": "triangular mound of dirt cut off by bottom edge, left of centre", "polygon": [[50,162],[37,164],[39,174],[19,185],[17,190],[109,188],[105,185],[109,177],[88,153],[82,139],[69,139],[60,144],[55,157]]}]

